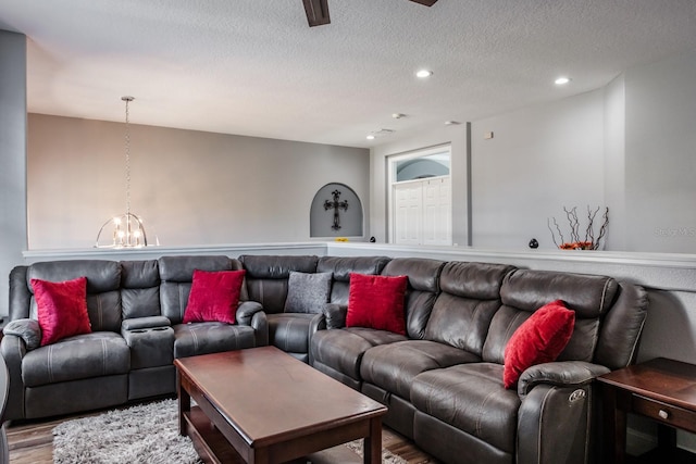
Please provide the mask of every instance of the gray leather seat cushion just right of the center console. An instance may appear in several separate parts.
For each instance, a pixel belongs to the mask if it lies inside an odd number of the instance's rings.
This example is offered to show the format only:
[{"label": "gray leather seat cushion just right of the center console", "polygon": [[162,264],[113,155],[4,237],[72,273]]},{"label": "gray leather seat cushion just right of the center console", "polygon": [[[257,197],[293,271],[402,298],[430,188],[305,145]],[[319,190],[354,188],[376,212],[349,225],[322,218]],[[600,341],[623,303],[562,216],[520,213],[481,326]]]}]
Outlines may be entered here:
[{"label": "gray leather seat cushion just right of the center console", "polygon": [[219,353],[221,351],[253,348],[253,328],[224,323],[176,324],[174,329],[174,358]]}]

